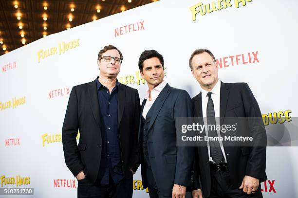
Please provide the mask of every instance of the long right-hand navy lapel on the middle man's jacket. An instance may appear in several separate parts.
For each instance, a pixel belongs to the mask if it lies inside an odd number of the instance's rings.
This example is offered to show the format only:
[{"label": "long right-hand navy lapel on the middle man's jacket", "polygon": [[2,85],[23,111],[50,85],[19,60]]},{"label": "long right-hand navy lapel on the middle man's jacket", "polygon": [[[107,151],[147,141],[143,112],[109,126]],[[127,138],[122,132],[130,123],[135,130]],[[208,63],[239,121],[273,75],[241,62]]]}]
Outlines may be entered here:
[{"label": "long right-hand navy lapel on the middle man's jacket", "polygon": [[162,106],[165,102],[165,99],[167,98],[168,94],[170,93],[169,89],[170,89],[170,86],[167,83],[165,88],[160,92],[160,94],[157,96],[156,100],[154,101],[155,107],[154,107],[153,112],[152,112],[152,116],[151,116],[151,119],[150,119],[150,125],[148,127],[148,130],[150,130],[151,126],[153,125],[153,123],[154,123],[154,121],[155,121],[155,119],[158,115],[158,112],[162,108]]}]

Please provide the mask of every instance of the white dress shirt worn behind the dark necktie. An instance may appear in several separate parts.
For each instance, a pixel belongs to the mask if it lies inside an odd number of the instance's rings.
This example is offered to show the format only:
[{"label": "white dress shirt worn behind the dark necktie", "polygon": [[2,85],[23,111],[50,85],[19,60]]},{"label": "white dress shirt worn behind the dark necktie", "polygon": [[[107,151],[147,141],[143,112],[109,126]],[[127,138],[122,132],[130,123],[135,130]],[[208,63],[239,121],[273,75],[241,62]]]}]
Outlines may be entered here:
[{"label": "white dress shirt worn behind the dark necktie", "polygon": [[[206,117],[207,117],[207,103],[208,103],[208,96],[207,93],[208,92],[212,92],[211,94],[211,98],[213,101],[213,105],[214,105],[214,113],[215,113],[215,122],[216,125],[219,125],[219,117],[220,117],[220,100],[221,100],[221,81],[218,80],[218,82],[215,84],[214,88],[210,91],[206,91],[202,88],[202,111],[203,111],[203,119],[204,119],[204,123],[207,123]],[[206,135],[208,136],[208,130],[206,127]],[[217,135],[218,137],[221,137],[221,131],[217,130]],[[222,152],[223,152],[223,157],[224,157],[224,163],[226,163],[226,157],[225,157],[225,153],[224,153],[224,148],[223,148],[223,142],[219,141]],[[214,162],[212,160],[212,158],[210,157],[210,145],[209,145],[209,141],[207,141],[207,147],[208,147],[208,156],[209,156],[209,161],[210,162]],[[215,162],[214,162],[215,163]]]}]

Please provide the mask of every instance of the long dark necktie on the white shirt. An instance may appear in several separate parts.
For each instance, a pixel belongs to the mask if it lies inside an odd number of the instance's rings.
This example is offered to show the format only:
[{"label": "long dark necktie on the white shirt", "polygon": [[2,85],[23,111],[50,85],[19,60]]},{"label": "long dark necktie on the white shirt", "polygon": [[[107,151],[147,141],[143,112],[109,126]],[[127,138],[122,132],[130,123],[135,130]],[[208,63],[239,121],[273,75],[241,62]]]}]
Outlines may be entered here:
[{"label": "long dark necktie on the white shirt", "polygon": [[[214,112],[214,105],[211,98],[211,92],[207,93],[208,96],[208,103],[207,103],[207,124],[215,126],[216,129],[216,122],[215,122],[215,112]],[[209,137],[218,137],[217,131],[213,130],[214,127],[208,127],[208,136]],[[210,156],[215,163],[220,163],[223,160],[223,153],[219,144],[219,141],[209,141],[210,144]]]}]

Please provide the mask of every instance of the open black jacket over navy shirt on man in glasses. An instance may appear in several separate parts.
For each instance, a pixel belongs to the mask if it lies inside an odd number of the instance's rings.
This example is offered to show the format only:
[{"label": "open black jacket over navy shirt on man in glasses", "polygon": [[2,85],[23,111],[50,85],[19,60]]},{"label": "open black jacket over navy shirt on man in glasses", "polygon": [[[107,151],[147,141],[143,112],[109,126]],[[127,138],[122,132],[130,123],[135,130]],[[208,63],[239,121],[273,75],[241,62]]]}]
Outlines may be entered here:
[{"label": "open black jacket over navy shirt on man in glasses", "polygon": [[[137,138],[139,115],[138,91],[119,83],[118,127],[125,178],[131,178],[130,168],[135,172],[140,165]],[[100,128],[96,81],[75,86],[69,97],[62,128],[65,162],[74,176],[83,170],[91,181],[97,179],[103,144]],[[76,145],[78,129],[80,140]]]}]

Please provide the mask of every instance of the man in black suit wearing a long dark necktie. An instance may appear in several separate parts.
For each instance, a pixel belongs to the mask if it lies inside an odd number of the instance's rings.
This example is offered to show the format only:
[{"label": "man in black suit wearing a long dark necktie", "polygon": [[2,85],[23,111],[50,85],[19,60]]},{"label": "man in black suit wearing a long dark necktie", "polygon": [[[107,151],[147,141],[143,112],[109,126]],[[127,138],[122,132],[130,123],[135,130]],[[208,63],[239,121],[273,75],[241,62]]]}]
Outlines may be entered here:
[{"label": "man in black suit wearing a long dark necktie", "polygon": [[[259,122],[261,111],[253,93],[246,83],[219,81],[218,66],[209,50],[194,51],[189,66],[202,88],[201,93],[192,98],[194,117],[201,118],[201,122],[203,117],[207,117],[207,123],[211,120],[210,115],[255,118],[250,126],[241,127],[249,128],[257,143],[257,146],[233,147],[222,141],[207,141],[207,146],[198,146],[195,150],[193,198],[202,198],[202,190],[206,198],[261,198],[260,182],[267,180],[266,131]],[[222,120],[218,121],[221,125]],[[221,131],[214,132],[223,137]]]}]

